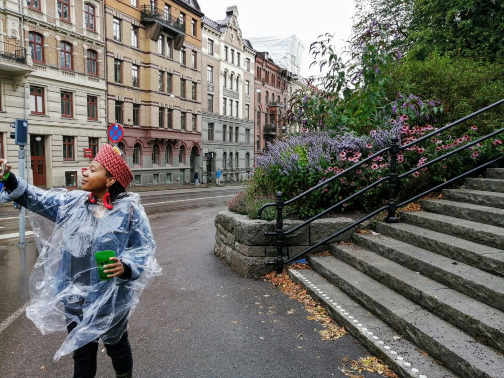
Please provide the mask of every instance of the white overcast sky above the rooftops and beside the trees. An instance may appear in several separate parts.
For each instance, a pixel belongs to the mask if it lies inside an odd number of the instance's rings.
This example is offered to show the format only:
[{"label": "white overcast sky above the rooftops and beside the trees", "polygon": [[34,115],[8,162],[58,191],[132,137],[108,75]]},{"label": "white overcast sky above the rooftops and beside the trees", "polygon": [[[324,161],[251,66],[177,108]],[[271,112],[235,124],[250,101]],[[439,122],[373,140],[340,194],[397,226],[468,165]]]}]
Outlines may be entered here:
[{"label": "white overcast sky above the rooftops and beside the trees", "polygon": [[335,34],[334,44],[343,47],[350,37],[354,0],[199,0],[202,12],[212,20],[222,20],[227,7],[238,7],[238,23],[243,37],[269,37],[295,34],[304,43],[301,73],[304,77],[319,71],[308,66],[312,61],[309,45],[321,34]]}]

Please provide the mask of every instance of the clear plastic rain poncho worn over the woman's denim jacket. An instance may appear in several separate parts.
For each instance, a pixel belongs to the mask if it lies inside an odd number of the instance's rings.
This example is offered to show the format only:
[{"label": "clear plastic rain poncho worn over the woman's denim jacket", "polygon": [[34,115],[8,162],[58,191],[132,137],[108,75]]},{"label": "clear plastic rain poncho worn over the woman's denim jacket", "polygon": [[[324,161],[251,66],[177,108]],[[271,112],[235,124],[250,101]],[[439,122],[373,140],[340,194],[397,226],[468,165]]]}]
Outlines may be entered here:
[{"label": "clear plastic rain poncho worn over the woman's denim jacket", "polygon": [[[141,292],[161,273],[138,194],[120,194],[113,209],[107,210],[91,203],[88,192],[43,191],[18,178],[11,194],[0,192],[0,203],[7,201],[31,211],[39,250],[26,316],[43,334],[66,331],[71,322],[77,323],[54,361],[98,339],[117,343]],[[131,268],[131,279],[100,281],[94,256],[100,250],[115,250],[115,256]]]}]

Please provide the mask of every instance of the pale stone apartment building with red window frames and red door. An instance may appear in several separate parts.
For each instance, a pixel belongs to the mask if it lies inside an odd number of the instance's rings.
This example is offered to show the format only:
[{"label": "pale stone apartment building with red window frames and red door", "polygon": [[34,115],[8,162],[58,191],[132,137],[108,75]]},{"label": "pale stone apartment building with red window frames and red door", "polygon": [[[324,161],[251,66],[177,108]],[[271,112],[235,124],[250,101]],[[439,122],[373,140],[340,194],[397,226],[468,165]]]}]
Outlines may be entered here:
[{"label": "pale stone apartment building with red window frames and red door", "polygon": [[78,187],[85,149],[95,154],[106,141],[102,2],[7,1],[0,22],[0,48],[18,58],[2,54],[0,62],[0,156],[17,168],[9,125],[26,118],[29,181]]}]

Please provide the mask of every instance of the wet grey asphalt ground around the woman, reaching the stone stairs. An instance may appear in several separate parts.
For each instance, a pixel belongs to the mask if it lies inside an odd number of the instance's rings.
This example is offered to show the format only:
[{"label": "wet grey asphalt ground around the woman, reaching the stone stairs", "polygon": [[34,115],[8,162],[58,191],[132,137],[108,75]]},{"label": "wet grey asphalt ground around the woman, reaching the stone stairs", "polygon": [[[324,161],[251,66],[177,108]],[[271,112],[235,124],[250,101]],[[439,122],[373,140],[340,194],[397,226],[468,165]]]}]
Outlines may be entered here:
[{"label": "wet grey asphalt ground around the woman, reaching the stone stairs", "polygon": [[[321,326],[306,319],[303,305],[268,282],[241,278],[215,257],[214,218],[223,209],[207,206],[149,216],[163,275],[144,291],[130,320],[134,376],[345,377],[338,370],[344,356],[368,355],[353,337],[323,341]],[[24,255],[18,247],[0,247],[3,324],[26,303],[35,256],[33,244]],[[20,267],[22,274],[9,277],[9,270]],[[288,314],[290,310],[294,312]],[[71,356],[52,362],[65,336],[41,335],[22,313],[0,331],[0,378],[70,378]],[[112,378],[102,349],[100,345],[97,377]]]}]

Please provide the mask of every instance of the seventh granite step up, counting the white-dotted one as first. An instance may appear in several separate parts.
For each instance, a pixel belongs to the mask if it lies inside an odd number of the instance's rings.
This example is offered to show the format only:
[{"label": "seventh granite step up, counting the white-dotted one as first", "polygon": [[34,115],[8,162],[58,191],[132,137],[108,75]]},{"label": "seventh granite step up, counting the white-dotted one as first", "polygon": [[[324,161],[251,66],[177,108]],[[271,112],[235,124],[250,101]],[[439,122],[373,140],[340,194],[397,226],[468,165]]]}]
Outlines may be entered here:
[{"label": "seventh granite step up, counting the white-dotted one as first", "polygon": [[504,209],[449,200],[422,200],[422,209],[457,218],[504,227]]}]

